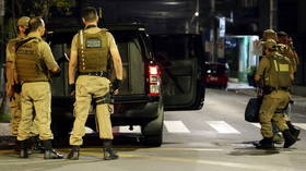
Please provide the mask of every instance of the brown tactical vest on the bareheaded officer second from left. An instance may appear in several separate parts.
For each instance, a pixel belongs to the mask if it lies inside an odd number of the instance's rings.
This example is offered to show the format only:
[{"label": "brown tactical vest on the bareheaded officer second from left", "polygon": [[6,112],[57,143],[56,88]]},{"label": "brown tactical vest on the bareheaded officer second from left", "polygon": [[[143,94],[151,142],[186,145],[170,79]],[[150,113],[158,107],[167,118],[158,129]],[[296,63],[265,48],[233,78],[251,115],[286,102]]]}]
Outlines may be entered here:
[{"label": "brown tactical vest on the bareheaded officer second from left", "polygon": [[40,39],[35,38],[16,47],[16,72],[22,83],[48,81],[47,68],[38,56],[39,42]]}]

